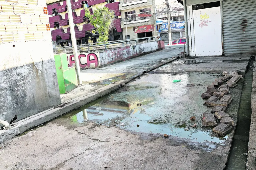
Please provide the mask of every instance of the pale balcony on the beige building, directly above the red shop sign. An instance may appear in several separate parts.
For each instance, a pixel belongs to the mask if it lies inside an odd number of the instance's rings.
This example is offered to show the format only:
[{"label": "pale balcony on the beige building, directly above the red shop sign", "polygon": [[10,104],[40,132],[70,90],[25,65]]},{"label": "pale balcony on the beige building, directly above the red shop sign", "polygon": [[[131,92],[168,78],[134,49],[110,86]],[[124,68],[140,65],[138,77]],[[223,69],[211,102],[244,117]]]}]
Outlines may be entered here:
[{"label": "pale balcony on the beige building, directly above the red shop sign", "polygon": [[134,17],[132,18],[132,20],[121,20],[121,28],[126,28],[126,25],[127,27],[136,27],[149,24],[156,24],[154,17]]}]

